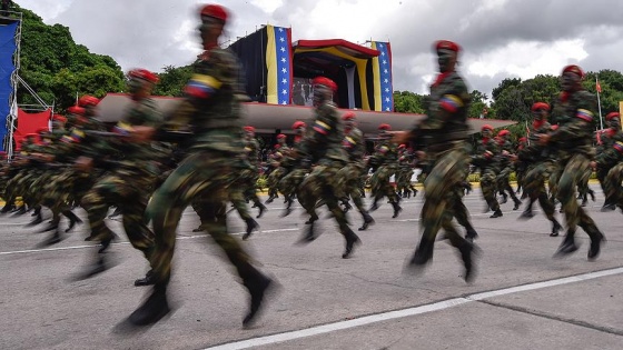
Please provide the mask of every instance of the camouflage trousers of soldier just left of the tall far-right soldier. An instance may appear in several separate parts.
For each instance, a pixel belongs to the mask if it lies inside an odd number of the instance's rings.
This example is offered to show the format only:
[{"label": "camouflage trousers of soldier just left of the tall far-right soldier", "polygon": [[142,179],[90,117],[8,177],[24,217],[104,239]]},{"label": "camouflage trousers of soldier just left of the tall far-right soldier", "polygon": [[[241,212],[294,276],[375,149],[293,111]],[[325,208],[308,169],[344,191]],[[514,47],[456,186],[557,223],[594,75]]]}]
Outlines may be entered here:
[{"label": "camouflage trousers of soldier just left of the tall far-right soldier", "polygon": [[545,180],[553,177],[556,172],[556,164],[553,161],[543,161],[528,167],[524,178],[524,192],[531,202],[538,200],[538,204],[543,208],[543,212],[551,221],[554,220],[555,207],[547,197],[545,189]]}]

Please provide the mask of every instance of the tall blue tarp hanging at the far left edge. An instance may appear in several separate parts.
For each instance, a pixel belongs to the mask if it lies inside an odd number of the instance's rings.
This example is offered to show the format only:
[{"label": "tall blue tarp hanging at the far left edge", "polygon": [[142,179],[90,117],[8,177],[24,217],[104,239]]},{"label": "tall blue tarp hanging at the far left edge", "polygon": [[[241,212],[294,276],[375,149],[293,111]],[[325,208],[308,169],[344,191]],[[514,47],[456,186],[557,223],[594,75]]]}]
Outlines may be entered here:
[{"label": "tall blue tarp hanging at the far left edge", "polygon": [[16,52],[16,30],[19,22],[0,26],[0,148],[4,148],[7,136],[7,118],[11,111],[11,76],[16,70],[13,53]]}]

